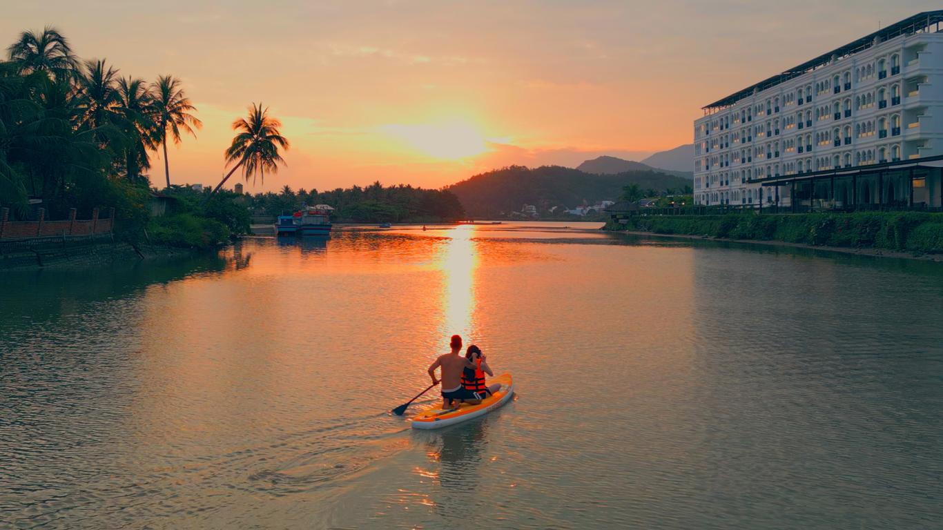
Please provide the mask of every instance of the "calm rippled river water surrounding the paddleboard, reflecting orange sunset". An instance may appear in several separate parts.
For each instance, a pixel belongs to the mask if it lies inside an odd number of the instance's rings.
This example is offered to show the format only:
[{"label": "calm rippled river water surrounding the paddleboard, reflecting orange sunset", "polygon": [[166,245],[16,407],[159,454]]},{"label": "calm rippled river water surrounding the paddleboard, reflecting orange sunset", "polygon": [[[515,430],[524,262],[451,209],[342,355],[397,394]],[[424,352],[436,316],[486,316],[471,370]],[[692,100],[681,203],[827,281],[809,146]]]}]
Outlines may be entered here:
[{"label": "calm rippled river water surrounding the paddleboard, reflecting orange sunset", "polygon": [[[0,527],[939,528],[941,301],[562,224],[0,273]],[[453,333],[517,398],[413,431]]]}]

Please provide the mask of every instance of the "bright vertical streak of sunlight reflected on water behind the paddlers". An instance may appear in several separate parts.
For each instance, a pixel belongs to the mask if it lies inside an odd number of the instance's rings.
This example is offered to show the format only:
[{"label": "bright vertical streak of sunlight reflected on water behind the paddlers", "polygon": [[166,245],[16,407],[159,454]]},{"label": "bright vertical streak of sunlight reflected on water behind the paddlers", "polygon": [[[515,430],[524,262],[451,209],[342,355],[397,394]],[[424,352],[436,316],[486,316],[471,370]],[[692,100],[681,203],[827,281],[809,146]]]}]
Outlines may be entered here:
[{"label": "bright vertical streak of sunlight reflected on water behind the paddlers", "polygon": [[478,253],[473,240],[475,226],[463,224],[449,231],[450,239],[445,243],[437,265],[442,271],[443,336],[458,334],[472,336],[472,312],[474,310],[474,271],[478,266]]}]

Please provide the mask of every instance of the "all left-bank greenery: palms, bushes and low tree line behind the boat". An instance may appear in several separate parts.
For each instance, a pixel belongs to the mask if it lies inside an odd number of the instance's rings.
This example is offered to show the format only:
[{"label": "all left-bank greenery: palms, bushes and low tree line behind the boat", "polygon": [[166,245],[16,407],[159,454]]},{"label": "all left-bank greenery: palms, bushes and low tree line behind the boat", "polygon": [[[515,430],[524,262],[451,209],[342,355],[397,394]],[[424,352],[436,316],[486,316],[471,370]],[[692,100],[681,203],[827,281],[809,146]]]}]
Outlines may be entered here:
[{"label": "all left-bank greenery: palms, bushes and low tree line behind the boat", "polygon": [[[82,60],[52,26],[24,31],[7,52],[0,60],[0,207],[9,208],[11,222],[67,219],[72,208],[83,219],[113,207],[117,241],[210,249],[250,233],[253,214],[291,213],[304,203],[337,208],[340,222],[464,218],[452,193],[410,186],[223,190],[236,173],[264,184],[285,164],[281,152],[290,143],[262,104],[233,123],[236,135],[223,153],[230,169],[219,184],[175,185],[167,143],[195,138],[202,126],[180,79],[160,75],[148,83],[106,59]],[[161,157],[166,186],[158,190],[147,171]]]}]

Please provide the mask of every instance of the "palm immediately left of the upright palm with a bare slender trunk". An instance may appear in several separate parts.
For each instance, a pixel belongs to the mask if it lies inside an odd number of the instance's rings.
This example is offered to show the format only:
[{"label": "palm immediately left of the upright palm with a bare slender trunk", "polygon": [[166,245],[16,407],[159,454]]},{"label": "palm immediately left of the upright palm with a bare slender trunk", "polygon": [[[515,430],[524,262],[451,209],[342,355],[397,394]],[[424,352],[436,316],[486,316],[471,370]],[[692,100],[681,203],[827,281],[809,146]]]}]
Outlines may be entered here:
[{"label": "palm immediately left of the upright palm with a bare slender trunk", "polygon": [[153,96],[143,79],[118,80],[118,112],[124,118],[124,134],[128,137],[124,150],[128,180],[137,180],[141,170],[151,167],[147,151],[156,149],[158,141],[153,110]]}]

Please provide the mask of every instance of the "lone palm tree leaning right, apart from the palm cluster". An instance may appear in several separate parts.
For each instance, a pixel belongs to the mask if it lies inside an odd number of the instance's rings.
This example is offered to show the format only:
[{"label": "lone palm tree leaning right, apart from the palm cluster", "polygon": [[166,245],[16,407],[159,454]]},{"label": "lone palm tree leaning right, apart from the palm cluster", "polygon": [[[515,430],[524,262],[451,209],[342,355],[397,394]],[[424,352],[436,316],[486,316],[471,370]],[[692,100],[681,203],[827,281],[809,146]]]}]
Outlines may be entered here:
[{"label": "lone palm tree leaning right, apart from the palm cluster", "polygon": [[[215,193],[223,187],[226,180],[236,170],[242,168],[246,182],[249,176],[256,182],[256,176],[265,182],[265,173],[278,173],[278,164],[284,164],[285,159],[278,153],[278,148],[288,151],[289,141],[281,135],[278,127],[282,123],[269,117],[269,108],[262,108],[262,104],[252,104],[249,107],[249,117],[240,118],[233,122],[233,130],[240,131],[233,139],[232,145],[226,149],[226,165],[236,162],[233,169],[223,177],[223,180],[213,188]],[[288,188],[288,187],[286,187]]]}]

